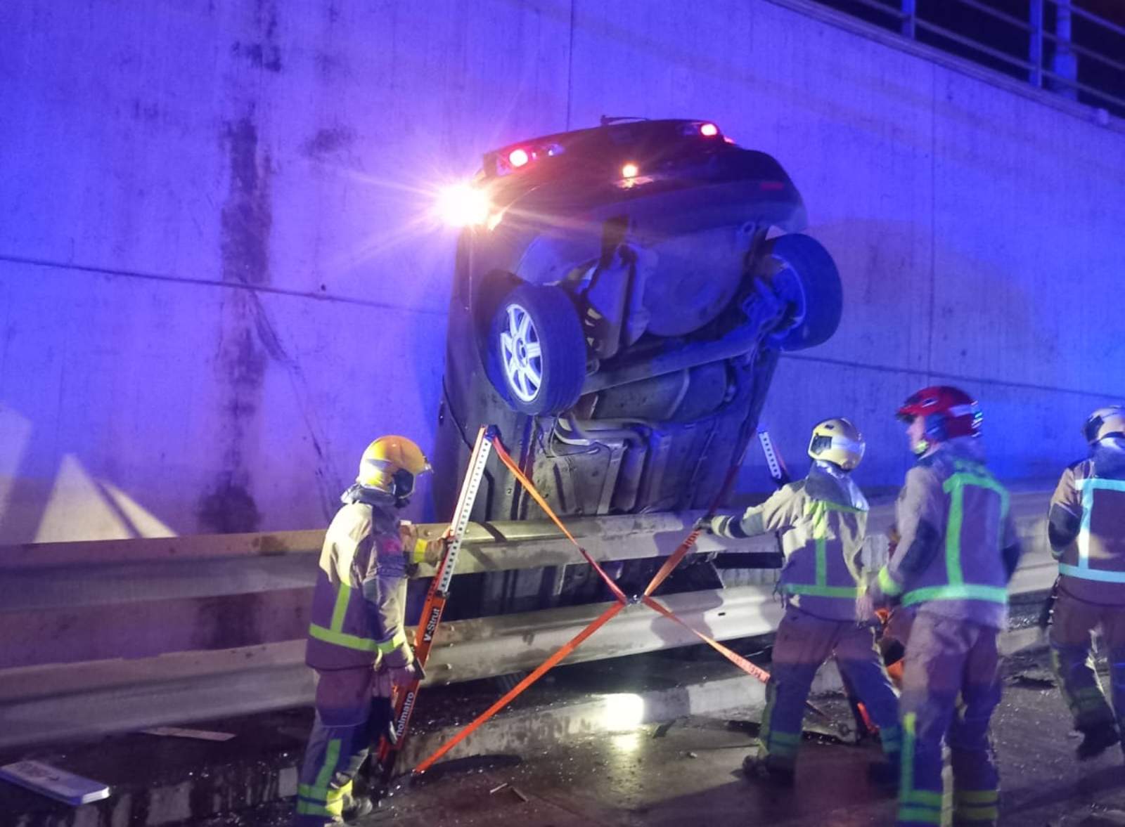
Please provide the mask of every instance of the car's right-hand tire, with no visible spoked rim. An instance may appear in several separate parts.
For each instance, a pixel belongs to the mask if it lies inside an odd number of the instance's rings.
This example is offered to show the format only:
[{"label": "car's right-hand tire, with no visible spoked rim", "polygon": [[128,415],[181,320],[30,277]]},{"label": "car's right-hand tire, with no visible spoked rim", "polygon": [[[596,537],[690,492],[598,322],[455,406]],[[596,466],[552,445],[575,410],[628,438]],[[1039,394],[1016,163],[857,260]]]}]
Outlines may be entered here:
[{"label": "car's right-hand tire, with no visible spoked rim", "polygon": [[803,351],[831,338],[844,310],[844,287],[836,262],[820,242],[800,233],[772,238],[759,270],[792,308],[789,326],[774,335],[773,344]]}]

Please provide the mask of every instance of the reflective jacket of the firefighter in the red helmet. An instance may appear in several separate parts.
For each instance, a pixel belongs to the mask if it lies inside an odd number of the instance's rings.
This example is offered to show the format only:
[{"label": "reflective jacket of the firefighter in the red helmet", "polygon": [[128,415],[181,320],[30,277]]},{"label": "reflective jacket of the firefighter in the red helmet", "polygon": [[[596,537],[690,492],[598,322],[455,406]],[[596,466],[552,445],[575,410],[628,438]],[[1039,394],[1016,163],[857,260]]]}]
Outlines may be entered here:
[{"label": "reflective jacket of the firefighter in the red helmet", "polygon": [[1005,628],[1019,540],[1008,491],[978,439],[957,437],[907,472],[896,506],[900,536],[879,591],[903,606]]}]

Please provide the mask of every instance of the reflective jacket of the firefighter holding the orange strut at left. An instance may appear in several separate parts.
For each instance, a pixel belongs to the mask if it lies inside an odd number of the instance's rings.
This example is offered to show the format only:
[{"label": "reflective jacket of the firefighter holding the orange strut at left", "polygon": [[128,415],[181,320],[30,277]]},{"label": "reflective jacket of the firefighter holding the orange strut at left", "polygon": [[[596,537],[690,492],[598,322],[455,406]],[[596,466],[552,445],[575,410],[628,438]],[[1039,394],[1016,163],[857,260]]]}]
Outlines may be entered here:
[{"label": "reflective jacket of the firefighter holding the orange strut at left", "polygon": [[[394,497],[353,485],[324,537],[305,662],[333,670],[410,662],[406,567]],[[414,549],[410,549],[413,555]]]}]

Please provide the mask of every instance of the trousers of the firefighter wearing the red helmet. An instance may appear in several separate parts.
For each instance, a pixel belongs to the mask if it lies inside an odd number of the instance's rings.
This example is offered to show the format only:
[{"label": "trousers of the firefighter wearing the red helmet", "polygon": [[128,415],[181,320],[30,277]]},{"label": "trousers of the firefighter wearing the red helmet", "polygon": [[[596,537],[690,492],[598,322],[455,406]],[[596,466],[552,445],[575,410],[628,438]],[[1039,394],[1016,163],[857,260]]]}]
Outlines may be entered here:
[{"label": "trousers of the firefighter wearing the red helmet", "polygon": [[999,775],[989,720],[1000,702],[998,634],[925,609],[915,618],[900,700],[900,827],[942,824],[943,743],[953,764],[953,824],[996,824]]}]

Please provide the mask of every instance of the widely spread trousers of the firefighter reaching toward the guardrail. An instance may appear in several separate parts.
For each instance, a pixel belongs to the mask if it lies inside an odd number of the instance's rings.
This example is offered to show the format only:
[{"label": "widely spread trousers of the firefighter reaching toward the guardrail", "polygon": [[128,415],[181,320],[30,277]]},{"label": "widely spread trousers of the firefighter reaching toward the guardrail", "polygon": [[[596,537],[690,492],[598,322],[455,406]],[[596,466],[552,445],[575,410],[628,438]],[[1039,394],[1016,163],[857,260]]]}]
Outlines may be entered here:
[{"label": "widely spread trousers of the firefighter reaching toward the guardrail", "polygon": [[812,679],[834,655],[844,680],[879,727],[883,752],[898,754],[898,698],[875,647],[874,628],[827,620],[790,606],[777,627],[766,708],[758,730],[758,760],[767,766],[794,769]]}]

